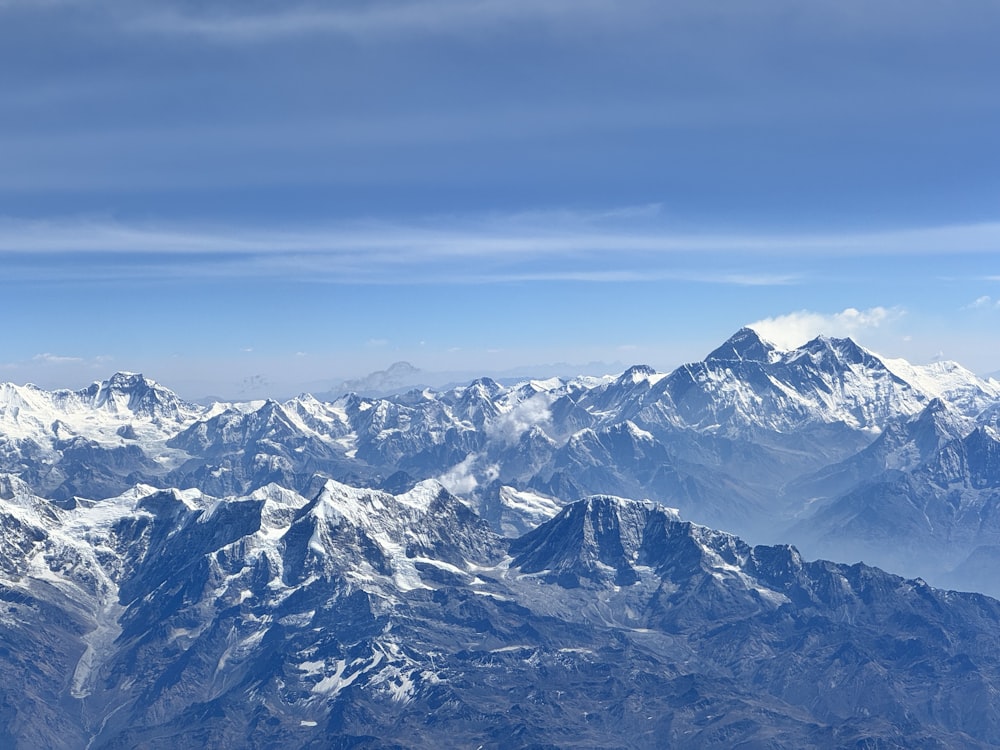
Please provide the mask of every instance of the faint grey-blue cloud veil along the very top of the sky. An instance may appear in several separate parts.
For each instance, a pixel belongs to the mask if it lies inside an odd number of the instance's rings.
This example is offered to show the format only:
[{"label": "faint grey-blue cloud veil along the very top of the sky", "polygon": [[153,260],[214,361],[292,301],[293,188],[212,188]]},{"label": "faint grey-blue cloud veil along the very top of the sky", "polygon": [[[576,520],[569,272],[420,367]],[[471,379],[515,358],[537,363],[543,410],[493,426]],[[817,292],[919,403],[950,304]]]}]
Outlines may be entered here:
[{"label": "faint grey-blue cloud veil along the very top of the sky", "polygon": [[[370,36],[400,32],[440,33],[495,26],[514,20],[552,20],[561,25],[599,19],[609,23],[641,23],[667,18],[674,25],[694,19],[735,19],[742,26],[769,25],[778,17],[787,22],[789,9],[798,12],[796,28],[906,33],[940,32],[958,25],[954,13],[936,8],[901,13],[893,4],[872,8],[855,2],[816,0],[808,8],[793,0],[761,0],[748,6],[725,8],[697,0],[656,3],[650,0],[366,0],[358,3],[322,3],[287,0],[260,3],[130,3],[123,0],[0,0],[0,8],[77,5],[113,13],[129,28],[161,34],[197,35],[209,39],[257,42],[322,33]],[[988,4],[982,4],[987,6]],[[970,8],[972,18],[991,18],[989,7]]]}]

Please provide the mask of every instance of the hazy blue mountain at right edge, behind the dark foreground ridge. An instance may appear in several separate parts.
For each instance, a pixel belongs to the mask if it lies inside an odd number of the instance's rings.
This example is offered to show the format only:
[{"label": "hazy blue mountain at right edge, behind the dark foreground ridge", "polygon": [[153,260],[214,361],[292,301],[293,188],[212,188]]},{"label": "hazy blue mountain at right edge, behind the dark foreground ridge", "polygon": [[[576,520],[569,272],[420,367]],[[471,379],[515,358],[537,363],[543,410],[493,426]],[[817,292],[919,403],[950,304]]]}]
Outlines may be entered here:
[{"label": "hazy blue mountain at right edge, behind the dark foreground ridge", "polygon": [[997,568],[977,572],[966,564],[970,555],[985,560],[1000,549],[1000,439],[987,427],[963,435],[954,422],[938,431],[930,421],[922,414],[836,467],[830,478],[843,491],[791,534],[816,554],[863,556],[1000,595]]}]

